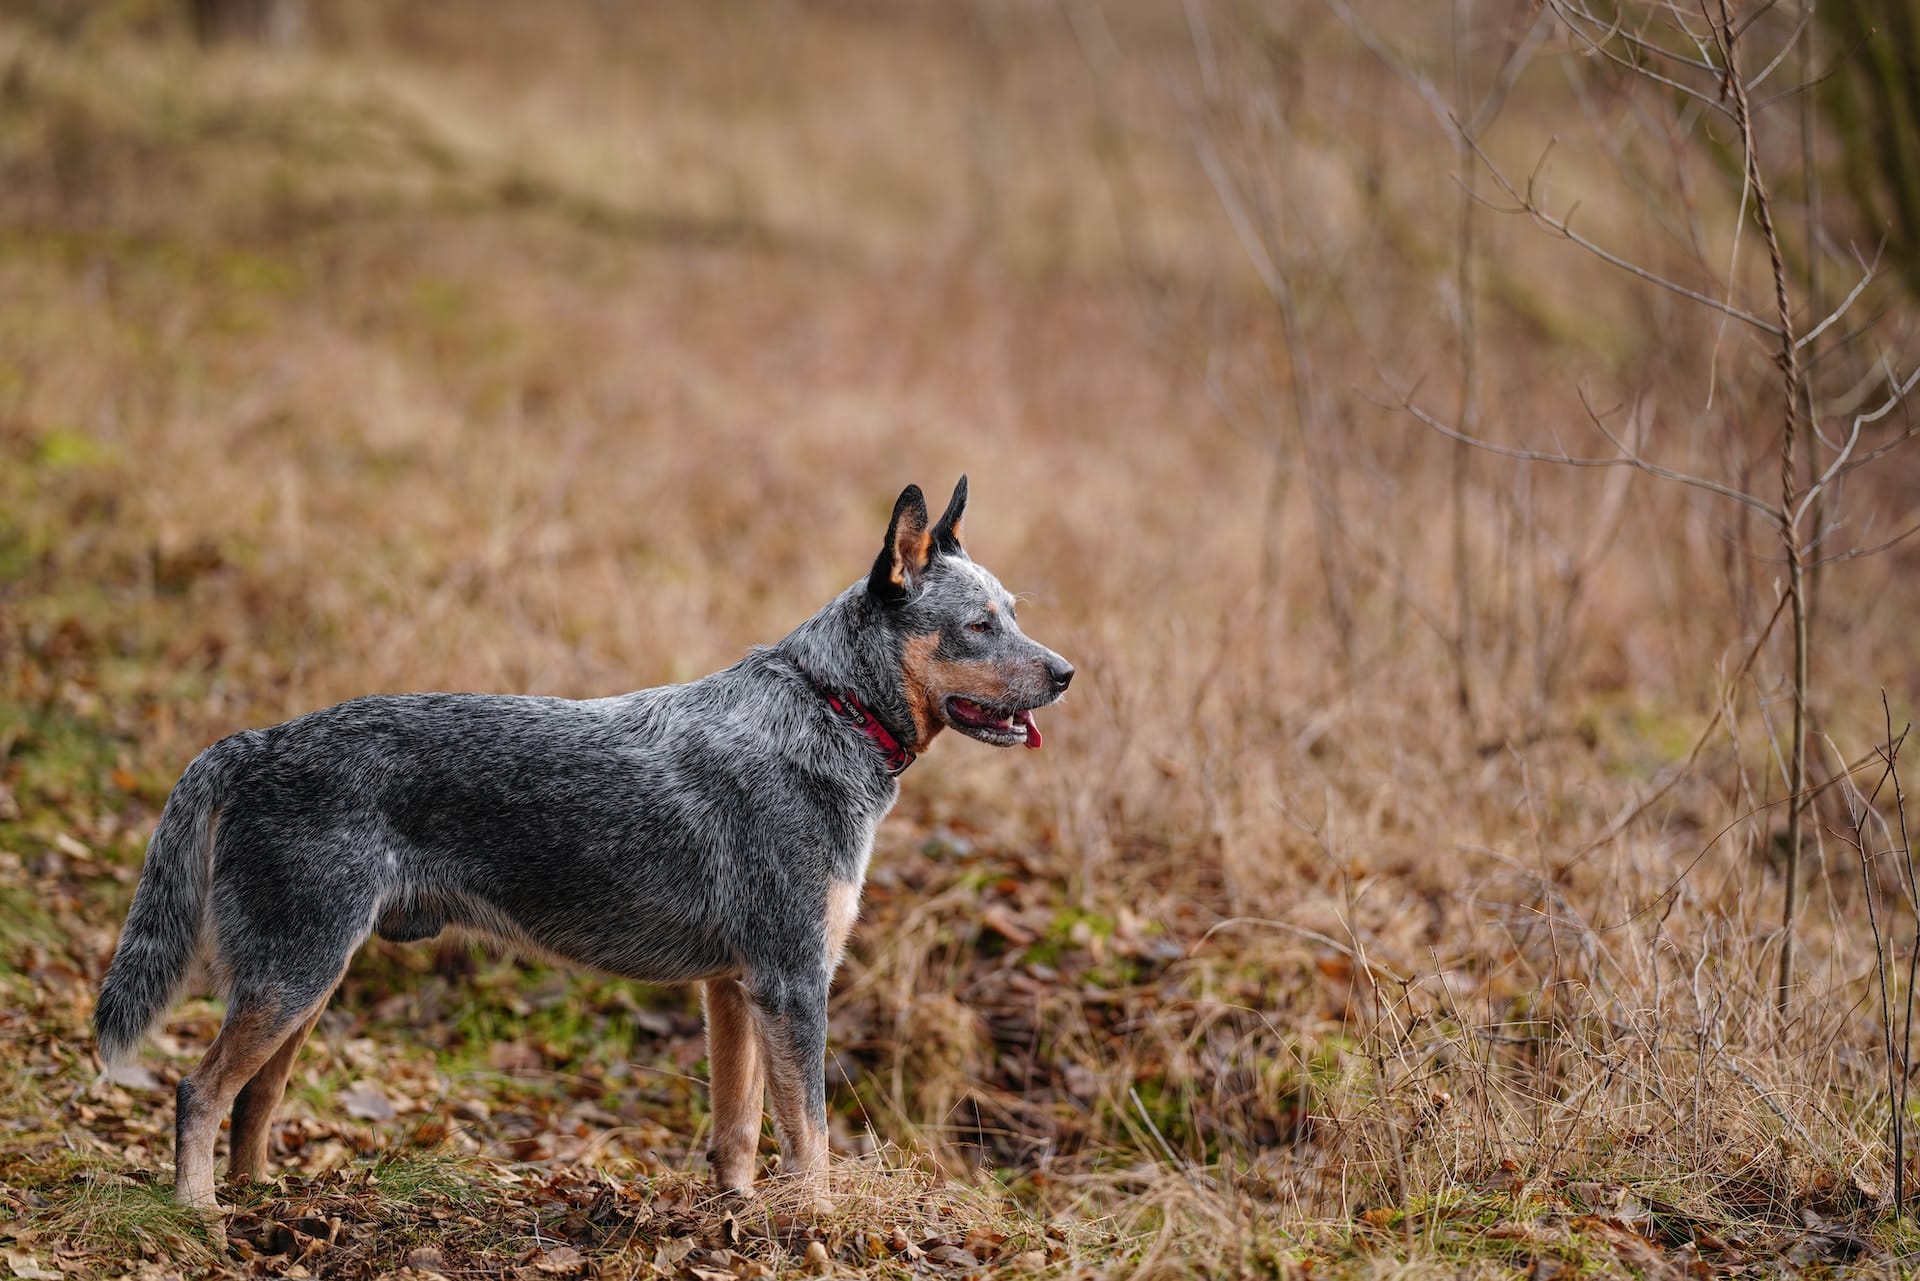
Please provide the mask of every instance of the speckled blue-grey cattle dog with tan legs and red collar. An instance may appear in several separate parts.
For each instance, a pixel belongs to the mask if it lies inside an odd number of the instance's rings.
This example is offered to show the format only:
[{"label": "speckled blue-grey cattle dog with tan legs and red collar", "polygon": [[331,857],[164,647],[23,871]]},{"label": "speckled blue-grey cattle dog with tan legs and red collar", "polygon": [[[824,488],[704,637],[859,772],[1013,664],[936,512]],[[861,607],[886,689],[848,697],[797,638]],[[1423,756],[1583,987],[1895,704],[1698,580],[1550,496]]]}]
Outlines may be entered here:
[{"label": "speckled blue-grey cattle dog with tan legs and red collar", "polygon": [[828,983],[899,774],[952,726],[1041,745],[1073,668],[918,486],[872,572],[778,645],[607,699],[353,699],[204,751],[180,776],[100,987],[108,1064],[204,958],[227,1020],[180,1081],[179,1200],[217,1208],[213,1141],[257,1179],[294,1056],[369,933],[461,928],[651,983],[705,983],[712,1177],[753,1185],[762,1095],[785,1170],[826,1172]]}]

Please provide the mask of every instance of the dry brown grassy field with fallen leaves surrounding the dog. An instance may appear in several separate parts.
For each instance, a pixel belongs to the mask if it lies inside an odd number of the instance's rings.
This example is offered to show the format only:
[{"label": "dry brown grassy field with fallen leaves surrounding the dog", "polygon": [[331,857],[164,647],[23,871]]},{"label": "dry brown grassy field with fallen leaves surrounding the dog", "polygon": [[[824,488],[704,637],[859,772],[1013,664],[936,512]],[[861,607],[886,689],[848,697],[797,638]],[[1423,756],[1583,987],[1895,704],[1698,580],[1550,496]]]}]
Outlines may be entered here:
[{"label": "dry brown grassy field with fallen leaves surrounding the dog", "polygon": [[[1920,540],[1814,570],[1780,1010],[1770,517],[1402,407],[1613,455],[1592,407],[1778,503],[1770,340],[1484,167],[1463,236],[1461,156],[1380,54],[1465,115],[1534,10],[313,10],[284,50],[198,48],[159,0],[0,15],[15,1275],[1920,1260],[1880,985],[1903,1058],[1910,843],[1874,755],[1920,697]],[[1776,315],[1740,134],[1542,36],[1488,159],[1524,186],[1553,140],[1534,192],[1580,234]],[[1745,58],[1789,36],[1766,15]],[[1834,184],[1809,257],[1805,121],[1755,121],[1807,332],[1878,232]],[[1916,319],[1876,277],[1809,344],[1832,440]],[[1811,557],[1908,528],[1916,459],[1851,472]],[[699,676],[962,471],[973,555],[1079,676],[1041,753],[943,739],[881,828],[831,1214],[707,1200],[689,993],[384,943],[296,1070],[286,1175],[227,1235],[171,1210],[219,1006],[117,1081],[86,1016],[200,747],[371,691]]]}]

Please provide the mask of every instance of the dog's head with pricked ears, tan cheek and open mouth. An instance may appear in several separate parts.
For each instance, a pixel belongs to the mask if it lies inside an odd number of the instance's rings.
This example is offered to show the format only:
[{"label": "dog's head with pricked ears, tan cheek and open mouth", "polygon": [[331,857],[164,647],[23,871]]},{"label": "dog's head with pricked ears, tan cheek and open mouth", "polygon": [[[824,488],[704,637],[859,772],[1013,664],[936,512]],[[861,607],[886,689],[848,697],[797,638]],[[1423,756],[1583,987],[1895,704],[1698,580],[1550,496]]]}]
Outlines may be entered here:
[{"label": "dog's head with pricked ears, tan cheek and open mouth", "polygon": [[962,517],[966,476],[931,524],[920,486],[906,486],[866,593],[899,645],[922,745],[952,726],[996,747],[1039,747],[1033,713],[1066,693],[1073,665],[1020,630],[1012,593],[966,553]]}]

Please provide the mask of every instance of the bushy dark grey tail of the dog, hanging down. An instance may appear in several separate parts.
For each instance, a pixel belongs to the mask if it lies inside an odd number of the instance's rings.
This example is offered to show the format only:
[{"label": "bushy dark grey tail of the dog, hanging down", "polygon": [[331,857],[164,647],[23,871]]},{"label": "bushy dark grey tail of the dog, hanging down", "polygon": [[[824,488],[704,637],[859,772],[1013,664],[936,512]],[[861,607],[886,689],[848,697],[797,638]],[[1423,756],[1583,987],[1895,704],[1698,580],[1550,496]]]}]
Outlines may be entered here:
[{"label": "bushy dark grey tail of the dog, hanging down", "polygon": [[127,926],[94,1003],[94,1039],[109,1068],[134,1056],[186,985],[207,924],[213,826],[234,768],[252,755],[246,734],[207,747],[186,766],[159,812]]}]

